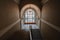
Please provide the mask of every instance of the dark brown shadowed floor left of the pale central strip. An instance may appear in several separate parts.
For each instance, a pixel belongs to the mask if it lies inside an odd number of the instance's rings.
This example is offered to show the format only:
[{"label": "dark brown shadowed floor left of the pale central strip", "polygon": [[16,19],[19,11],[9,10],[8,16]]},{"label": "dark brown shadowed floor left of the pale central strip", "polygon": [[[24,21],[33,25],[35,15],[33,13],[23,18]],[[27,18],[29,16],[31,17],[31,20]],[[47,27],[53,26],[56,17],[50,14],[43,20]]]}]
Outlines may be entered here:
[{"label": "dark brown shadowed floor left of the pale central strip", "polygon": [[13,33],[7,40],[29,40],[29,32],[17,31]]}]

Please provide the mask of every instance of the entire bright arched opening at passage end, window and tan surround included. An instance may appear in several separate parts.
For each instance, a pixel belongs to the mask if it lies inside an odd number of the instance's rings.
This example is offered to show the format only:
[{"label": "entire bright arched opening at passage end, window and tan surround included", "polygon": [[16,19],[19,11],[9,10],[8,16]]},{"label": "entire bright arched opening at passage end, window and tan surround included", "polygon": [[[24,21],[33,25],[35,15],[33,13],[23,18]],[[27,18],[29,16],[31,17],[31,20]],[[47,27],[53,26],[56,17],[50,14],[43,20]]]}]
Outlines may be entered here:
[{"label": "entire bright arched opening at passage end, window and tan surround included", "polygon": [[21,29],[40,29],[40,9],[34,4],[27,4],[21,9]]}]

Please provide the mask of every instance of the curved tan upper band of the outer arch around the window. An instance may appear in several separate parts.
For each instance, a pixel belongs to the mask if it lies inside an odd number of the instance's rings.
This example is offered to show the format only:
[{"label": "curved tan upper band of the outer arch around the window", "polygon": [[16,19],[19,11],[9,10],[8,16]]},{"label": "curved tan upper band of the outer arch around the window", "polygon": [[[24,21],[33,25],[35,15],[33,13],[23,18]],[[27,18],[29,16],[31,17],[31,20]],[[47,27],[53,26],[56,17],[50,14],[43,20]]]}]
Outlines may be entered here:
[{"label": "curved tan upper band of the outer arch around the window", "polygon": [[23,17],[24,11],[26,9],[34,9],[36,11],[37,18],[40,18],[40,9],[34,4],[27,4],[21,9],[21,17]]}]

